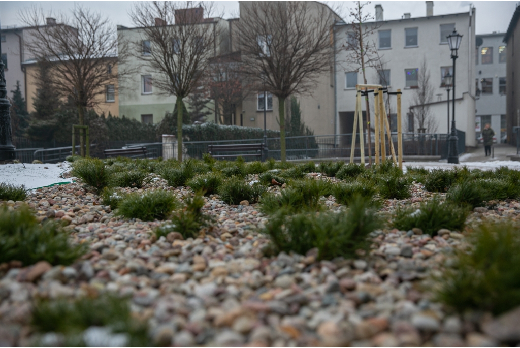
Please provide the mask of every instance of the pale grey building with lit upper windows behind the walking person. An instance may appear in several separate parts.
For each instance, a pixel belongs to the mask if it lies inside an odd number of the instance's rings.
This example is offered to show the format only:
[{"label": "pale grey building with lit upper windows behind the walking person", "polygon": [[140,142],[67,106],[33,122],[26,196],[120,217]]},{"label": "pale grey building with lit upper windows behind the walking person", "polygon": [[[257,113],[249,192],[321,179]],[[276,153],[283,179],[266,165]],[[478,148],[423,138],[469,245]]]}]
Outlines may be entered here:
[{"label": "pale grey building with lit upper windows behind the walking person", "polygon": [[477,35],[475,70],[477,95],[475,133],[477,138],[486,123],[495,131],[497,141],[505,143],[505,58],[504,33]]}]

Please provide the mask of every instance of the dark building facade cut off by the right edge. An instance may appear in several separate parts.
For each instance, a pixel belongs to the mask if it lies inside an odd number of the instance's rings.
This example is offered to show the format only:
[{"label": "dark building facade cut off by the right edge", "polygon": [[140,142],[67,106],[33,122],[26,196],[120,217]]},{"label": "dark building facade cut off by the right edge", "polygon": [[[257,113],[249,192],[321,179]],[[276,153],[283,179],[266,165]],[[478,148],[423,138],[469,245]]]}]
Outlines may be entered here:
[{"label": "dark building facade cut off by the right edge", "polygon": [[[518,91],[520,91],[520,6],[516,6],[513,18],[509,23],[508,31],[506,31],[503,43],[506,45],[506,128],[508,132],[508,143],[516,144],[518,139],[513,132],[513,127],[520,125],[520,100],[518,100]],[[516,95],[515,95],[516,92]]]}]

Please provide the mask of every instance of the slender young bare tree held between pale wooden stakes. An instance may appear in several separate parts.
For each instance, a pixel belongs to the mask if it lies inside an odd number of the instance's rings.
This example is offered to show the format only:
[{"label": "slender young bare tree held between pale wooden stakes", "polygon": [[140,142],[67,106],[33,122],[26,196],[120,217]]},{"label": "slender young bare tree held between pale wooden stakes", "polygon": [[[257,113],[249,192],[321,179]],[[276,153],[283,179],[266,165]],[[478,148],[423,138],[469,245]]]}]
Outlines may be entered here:
[{"label": "slender young bare tree held between pale wooden stakes", "polygon": [[[357,67],[354,71],[358,72],[361,70],[363,74],[363,83],[367,84],[367,67],[376,66],[380,62],[378,50],[375,47],[374,42],[369,41],[369,36],[380,27],[380,24],[371,22],[374,17],[366,12],[365,6],[370,2],[361,3],[359,1],[354,2],[354,8],[350,9],[350,25],[347,32],[347,42],[343,48],[347,51],[346,63],[349,66]],[[370,136],[370,107],[368,101],[368,95],[365,96],[366,105],[366,122],[368,132],[368,153],[369,153],[369,164],[372,164],[371,156],[371,136]]]}]

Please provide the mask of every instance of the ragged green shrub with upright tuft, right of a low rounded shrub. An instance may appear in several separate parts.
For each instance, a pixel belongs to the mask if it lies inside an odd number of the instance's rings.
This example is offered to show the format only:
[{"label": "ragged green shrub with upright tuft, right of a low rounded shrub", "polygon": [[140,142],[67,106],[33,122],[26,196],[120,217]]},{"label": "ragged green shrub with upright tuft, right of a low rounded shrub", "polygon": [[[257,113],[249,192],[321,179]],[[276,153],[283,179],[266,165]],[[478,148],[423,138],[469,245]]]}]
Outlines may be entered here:
[{"label": "ragged green shrub with upright tuft, right of a low rounded shrub", "polygon": [[193,198],[185,197],[186,207],[179,209],[171,216],[171,224],[166,224],[158,227],[155,230],[157,237],[166,236],[172,231],[176,231],[183,235],[184,238],[196,238],[202,227],[207,226],[211,221],[211,216],[202,213],[204,207],[204,197],[200,192]]}]

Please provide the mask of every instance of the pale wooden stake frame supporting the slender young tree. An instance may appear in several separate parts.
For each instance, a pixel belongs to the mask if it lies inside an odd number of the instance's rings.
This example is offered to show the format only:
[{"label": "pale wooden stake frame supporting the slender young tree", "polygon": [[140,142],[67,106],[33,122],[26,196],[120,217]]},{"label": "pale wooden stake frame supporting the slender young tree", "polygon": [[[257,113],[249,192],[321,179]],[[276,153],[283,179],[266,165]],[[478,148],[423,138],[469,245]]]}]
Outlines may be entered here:
[{"label": "pale wooden stake frame supporting the slender young tree", "polygon": [[[384,107],[384,90],[382,85],[356,85],[356,111],[354,112],[354,127],[352,132],[352,147],[350,148],[350,163],[354,162],[354,151],[356,146],[357,128],[359,126],[359,147],[361,150],[361,164],[365,165],[365,144],[362,122],[362,107],[361,107],[361,90],[365,89],[366,93],[374,92],[374,136],[375,136],[375,164],[380,163],[381,160],[386,159],[386,145],[385,145],[385,131],[390,143],[390,152],[392,160],[402,170],[402,130],[401,130],[401,90],[397,89],[395,93],[389,95],[397,96],[397,156],[392,141],[392,132],[390,130],[390,123],[388,122],[388,115]],[[369,91],[372,89],[372,91]],[[371,139],[368,139],[371,141]]]}]

